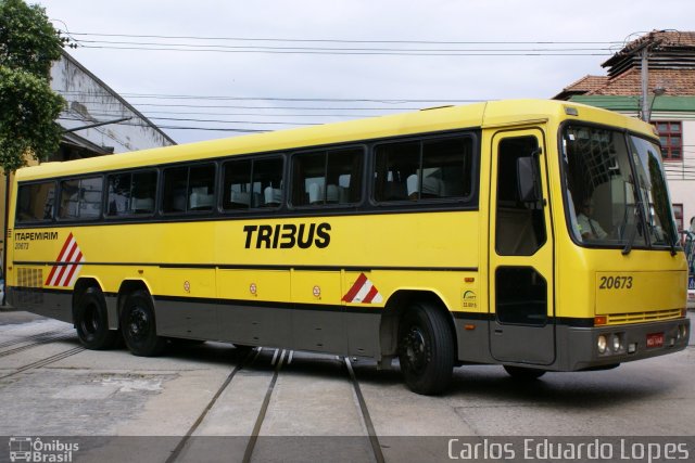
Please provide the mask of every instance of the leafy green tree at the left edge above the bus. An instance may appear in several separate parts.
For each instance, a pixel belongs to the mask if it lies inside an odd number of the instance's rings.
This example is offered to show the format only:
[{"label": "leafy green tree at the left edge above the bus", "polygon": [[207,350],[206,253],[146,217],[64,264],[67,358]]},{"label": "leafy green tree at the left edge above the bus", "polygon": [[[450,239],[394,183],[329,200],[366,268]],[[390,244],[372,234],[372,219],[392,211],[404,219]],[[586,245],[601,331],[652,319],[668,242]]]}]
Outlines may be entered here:
[{"label": "leafy green tree at the left edge above the bus", "polygon": [[0,166],[5,173],[26,156],[47,159],[60,144],[55,124],[65,101],[50,86],[51,63],[63,39],[46,10],[23,0],[0,0]]}]

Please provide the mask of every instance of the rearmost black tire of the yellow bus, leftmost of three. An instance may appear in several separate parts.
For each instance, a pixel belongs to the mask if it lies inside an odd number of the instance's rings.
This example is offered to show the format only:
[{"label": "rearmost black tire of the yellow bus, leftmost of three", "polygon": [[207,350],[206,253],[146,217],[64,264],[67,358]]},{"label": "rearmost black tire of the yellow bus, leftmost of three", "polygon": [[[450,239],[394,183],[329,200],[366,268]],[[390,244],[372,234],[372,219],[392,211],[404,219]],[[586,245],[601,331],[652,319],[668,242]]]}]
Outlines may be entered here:
[{"label": "rearmost black tire of the yellow bus, leftmost of three", "polygon": [[114,347],[118,332],[109,330],[109,311],[101,290],[91,286],[80,294],[73,314],[77,336],[83,346],[91,350]]}]

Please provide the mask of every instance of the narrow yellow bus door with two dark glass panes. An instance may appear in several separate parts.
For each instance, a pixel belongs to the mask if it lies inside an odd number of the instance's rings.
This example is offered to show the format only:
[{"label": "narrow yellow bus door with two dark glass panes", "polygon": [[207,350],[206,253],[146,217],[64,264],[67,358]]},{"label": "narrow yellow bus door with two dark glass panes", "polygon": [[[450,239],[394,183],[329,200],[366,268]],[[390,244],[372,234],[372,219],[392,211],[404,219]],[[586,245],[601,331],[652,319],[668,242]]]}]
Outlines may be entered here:
[{"label": "narrow yellow bus door with two dark glass panes", "polygon": [[489,335],[501,362],[555,360],[553,234],[543,132],[492,140]]}]

